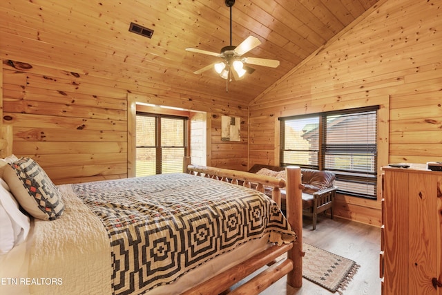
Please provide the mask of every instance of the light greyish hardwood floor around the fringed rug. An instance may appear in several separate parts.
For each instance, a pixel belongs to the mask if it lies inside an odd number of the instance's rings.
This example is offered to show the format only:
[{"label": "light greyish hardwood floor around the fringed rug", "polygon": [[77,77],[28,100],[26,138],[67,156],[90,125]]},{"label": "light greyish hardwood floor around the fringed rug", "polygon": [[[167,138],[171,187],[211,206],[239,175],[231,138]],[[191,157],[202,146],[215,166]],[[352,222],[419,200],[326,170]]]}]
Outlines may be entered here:
[{"label": "light greyish hardwood floor around the fringed rug", "polygon": [[[381,229],[363,225],[341,218],[330,219],[318,216],[316,230],[311,230],[311,219],[303,220],[302,242],[325,249],[334,254],[352,259],[361,265],[344,295],[378,295],[381,294],[381,278],[379,278],[379,251],[381,245]],[[285,277],[261,293],[262,295],[330,295],[327,289],[302,279],[302,287],[292,288],[287,285]]]}]

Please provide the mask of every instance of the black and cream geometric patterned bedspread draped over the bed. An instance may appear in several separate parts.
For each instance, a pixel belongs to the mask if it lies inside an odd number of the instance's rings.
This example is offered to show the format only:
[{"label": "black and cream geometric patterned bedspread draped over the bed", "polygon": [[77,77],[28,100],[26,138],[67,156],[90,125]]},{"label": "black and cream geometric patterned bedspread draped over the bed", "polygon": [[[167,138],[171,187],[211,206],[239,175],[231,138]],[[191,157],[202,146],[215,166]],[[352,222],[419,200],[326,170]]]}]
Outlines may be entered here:
[{"label": "black and cream geometric patterned bedspread draped over the bed", "polygon": [[73,184],[108,231],[114,294],[142,294],[271,233],[296,238],[267,196],[184,173]]}]

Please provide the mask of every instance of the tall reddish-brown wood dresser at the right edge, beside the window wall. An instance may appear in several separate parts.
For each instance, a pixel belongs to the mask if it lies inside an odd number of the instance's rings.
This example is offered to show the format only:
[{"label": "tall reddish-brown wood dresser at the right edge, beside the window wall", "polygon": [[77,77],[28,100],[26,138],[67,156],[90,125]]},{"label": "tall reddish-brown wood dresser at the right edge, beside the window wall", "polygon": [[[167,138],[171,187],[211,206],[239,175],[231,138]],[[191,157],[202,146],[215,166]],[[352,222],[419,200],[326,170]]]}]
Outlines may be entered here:
[{"label": "tall reddish-brown wood dresser at the right edge, beside the window wall", "polygon": [[383,295],[442,295],[442,172],[383,167]]}]

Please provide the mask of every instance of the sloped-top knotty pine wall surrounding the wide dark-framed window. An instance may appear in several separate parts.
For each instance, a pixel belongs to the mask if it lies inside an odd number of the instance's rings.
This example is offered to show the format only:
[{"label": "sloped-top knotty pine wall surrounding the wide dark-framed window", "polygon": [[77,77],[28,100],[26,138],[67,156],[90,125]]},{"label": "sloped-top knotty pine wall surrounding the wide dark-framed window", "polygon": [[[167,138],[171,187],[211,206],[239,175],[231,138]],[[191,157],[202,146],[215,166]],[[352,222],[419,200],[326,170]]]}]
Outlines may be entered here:
[{"label": "sloped-top knotty pine wall surrounding the wide dark-framed window", "polygon": [[[249,106],[249,165],[278,163],[278,117],[376,104],[380,164],[441,161],[441,53],[441,1],[369,10]],[[378,199],[338,196],[334,212],[380,225]]]}]

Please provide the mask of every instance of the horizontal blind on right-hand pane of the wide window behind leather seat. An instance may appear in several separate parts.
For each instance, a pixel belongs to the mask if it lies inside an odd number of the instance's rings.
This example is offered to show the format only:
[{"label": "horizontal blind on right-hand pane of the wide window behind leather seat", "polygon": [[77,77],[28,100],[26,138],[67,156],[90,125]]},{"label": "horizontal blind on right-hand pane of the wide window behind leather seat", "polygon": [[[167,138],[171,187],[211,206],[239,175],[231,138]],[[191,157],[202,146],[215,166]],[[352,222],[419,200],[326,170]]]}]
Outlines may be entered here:
[{"label": "horizontal blind on right-hand pane of the wide window behind leather seat", "polygon": [[376,196],[376,111],[327,115],[324,169],[336,174],[340,191]]}]

